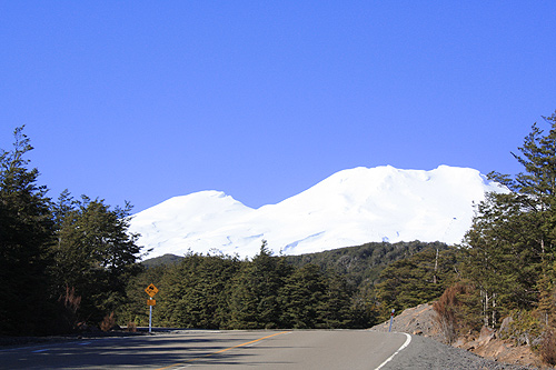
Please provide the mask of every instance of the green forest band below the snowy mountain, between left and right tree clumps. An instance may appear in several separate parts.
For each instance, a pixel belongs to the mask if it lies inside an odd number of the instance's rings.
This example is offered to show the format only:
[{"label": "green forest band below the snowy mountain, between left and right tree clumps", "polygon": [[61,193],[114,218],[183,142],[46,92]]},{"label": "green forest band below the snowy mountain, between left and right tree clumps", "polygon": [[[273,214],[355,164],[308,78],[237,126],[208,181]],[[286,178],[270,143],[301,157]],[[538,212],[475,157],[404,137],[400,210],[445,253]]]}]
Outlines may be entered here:
[{"label": "green forest band below the snowy mountain, between left and right tree clumps", "polygon": [[[120,317],[146,324],[147,284],[160,289],[156,324],[207,329],[368,328],[441,294],[454,252],[444,243],[367,243],[304,256],[272,256],[266,241],[252,259],[190,252],[145,261]],[[399,279],[391,262],[410,263]],[[386,270],[385,270],[386,269]],[[401,268],[400,268],[401,269]],[[384,272],[381,272],[384,270]],[[379,281],[387,283],[377,284]],[[414,284],[404,296],[398,291]],[[415,289],[418,287],[418,289]],[[377,297],[380,297],[378,299]]]}]

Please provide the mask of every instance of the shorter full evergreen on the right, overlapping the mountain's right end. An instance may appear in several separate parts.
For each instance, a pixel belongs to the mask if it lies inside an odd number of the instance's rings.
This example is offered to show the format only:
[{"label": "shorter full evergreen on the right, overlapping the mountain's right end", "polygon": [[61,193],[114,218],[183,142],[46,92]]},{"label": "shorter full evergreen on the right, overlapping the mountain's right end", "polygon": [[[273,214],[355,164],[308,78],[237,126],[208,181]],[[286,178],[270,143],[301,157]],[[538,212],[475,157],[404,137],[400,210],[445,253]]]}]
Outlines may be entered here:
[{"label": "shorter full evergreen on the right, overlapping the mountain's right end", "polygon": [[543,233],[537,214],[524,211],[523,198],[487,194],[465,237],[461,268],[479,290],[484,326],[494,327],[502,316],[536,300]]}]

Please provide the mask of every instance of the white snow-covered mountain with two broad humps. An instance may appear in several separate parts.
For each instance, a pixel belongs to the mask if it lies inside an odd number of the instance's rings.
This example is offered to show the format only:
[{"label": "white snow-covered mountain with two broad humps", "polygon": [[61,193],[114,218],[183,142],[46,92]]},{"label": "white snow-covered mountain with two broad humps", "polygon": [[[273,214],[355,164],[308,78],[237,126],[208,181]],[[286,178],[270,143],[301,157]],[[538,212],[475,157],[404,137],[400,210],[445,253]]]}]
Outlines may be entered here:
[{"label": "white snow-covered mountain with two broad humps", "polygon": [[507,192],[477,170],[431,171],[390,166],[337,172],[277,204],[252,209],[220,191],[171,198],[135,214],[140,246],[182,256],[219,251],[255,256],[261,240],[275,252],[301,254],[370,241],[457,243],[485,192]]}]

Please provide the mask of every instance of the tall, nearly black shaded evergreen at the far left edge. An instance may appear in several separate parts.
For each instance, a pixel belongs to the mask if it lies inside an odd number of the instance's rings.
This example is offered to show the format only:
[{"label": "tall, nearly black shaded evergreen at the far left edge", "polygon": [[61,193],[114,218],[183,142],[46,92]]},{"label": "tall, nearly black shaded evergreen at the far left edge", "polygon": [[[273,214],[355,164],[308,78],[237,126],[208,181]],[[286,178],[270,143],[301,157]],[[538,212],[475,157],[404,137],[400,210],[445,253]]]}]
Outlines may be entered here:
[{"label": "tall, nearly black shaded evergreen at the far left edge", "polygon": [[40,333],[51,320],[48,253],[53,222],[46,187],[37,184],[39,171],[28,169],[26,154],[33,148],[14,130],[11,151],[0,152],[0,334]]}]

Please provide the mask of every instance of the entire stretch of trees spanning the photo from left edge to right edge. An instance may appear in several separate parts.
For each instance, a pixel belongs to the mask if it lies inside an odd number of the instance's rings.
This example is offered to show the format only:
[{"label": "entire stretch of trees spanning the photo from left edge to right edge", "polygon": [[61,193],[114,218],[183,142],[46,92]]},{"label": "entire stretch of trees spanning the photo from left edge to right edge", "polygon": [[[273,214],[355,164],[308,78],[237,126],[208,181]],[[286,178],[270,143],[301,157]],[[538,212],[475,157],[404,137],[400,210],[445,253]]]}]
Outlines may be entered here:
[{"label": "entire stretch of trees spanning the photo from left edge to right edge", "polygon": [[489,173],[510,191],[476,206],[459,246],[368,243],[286,257],[261,241],[251,259],[190,252],[149,263],[139,263],[138,236],[128,233],[130,204],[68,191],[48,198],[18,128],[12,150],[0,152],[0,334],[146,324],[145,288],[155,283],[161,326],[367,328],[393,309],[435,301],[448,342],[506,322],[504,338],[556,348],[556,113],[544,123],[547,132],[533,124],[513,153],[523,172]]}]

